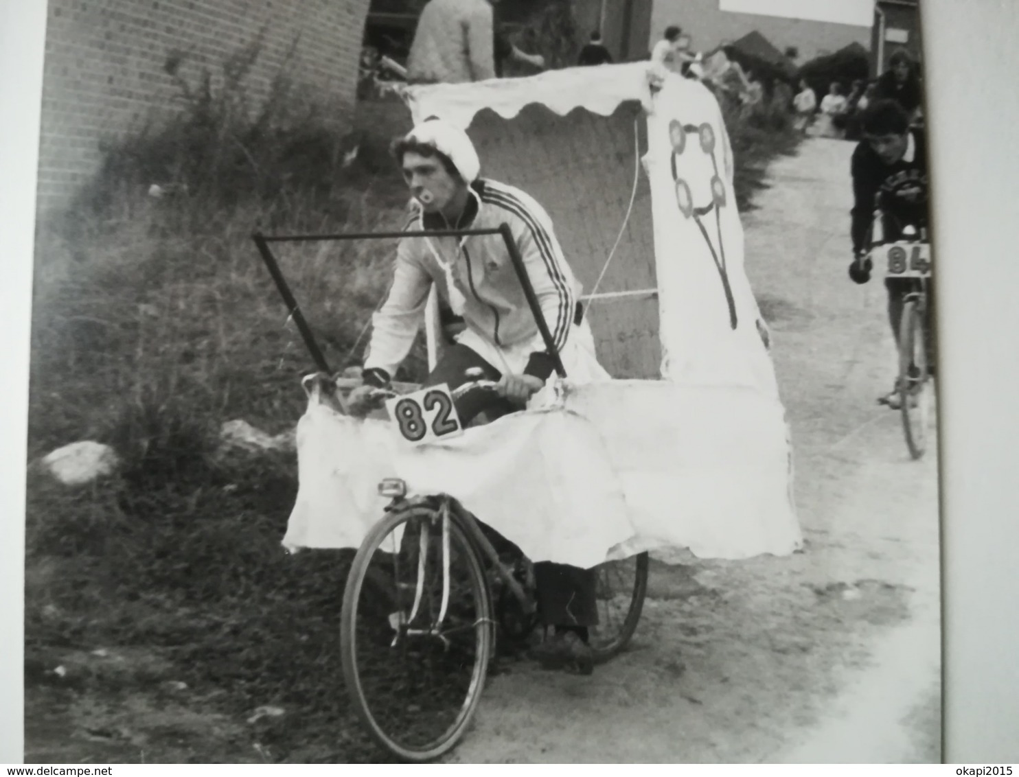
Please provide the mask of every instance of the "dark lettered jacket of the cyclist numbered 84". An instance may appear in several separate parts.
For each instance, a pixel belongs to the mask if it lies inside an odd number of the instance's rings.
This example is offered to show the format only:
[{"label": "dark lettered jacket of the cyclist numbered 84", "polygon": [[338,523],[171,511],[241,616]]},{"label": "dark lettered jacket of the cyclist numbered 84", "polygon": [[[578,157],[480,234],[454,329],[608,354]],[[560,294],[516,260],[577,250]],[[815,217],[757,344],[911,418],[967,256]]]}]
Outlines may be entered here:
[{"label": "dark lettered jacket of the cyclist numbered 84", "polygon": [[867,233],[878,197],[882,212],[900,226],[927,225],[927,143],[921,129],[911,129],[910,135],[905,155],[892,165],[882,162],[866,141],[853,153],[854,252],[867,248]]}]

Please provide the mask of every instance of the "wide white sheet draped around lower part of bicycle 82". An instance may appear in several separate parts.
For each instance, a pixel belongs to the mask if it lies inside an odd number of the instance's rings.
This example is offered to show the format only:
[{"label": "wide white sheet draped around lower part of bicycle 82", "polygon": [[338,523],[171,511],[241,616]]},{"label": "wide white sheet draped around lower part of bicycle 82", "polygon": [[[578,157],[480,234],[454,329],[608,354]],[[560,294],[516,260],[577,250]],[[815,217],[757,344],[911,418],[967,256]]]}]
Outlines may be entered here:
[{"label": "wide white sheet draped around lower part of bicycle 82", "polygon": [[356,548],[383,478],[448,493],[533,561],[593,566],[656,548],[710,558],[799,547],[782,405],[743,388],[651,381],[572,387],[544,409],[413,448],[384,421],[312,397],[284,545]]}]

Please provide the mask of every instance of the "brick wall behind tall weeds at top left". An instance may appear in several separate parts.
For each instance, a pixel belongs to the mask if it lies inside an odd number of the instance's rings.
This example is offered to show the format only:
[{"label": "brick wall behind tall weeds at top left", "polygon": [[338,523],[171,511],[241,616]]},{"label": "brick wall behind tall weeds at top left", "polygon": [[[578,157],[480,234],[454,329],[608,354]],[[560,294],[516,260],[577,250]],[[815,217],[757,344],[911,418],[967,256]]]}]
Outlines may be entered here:
[{"label": "brick wall behind tall weeds at top left", "polygon": [[[65,204],[95,171],[99,146],[165,115],[182,75],[223,60],[265,31],[250,76],[265,89],[293,49],[297,86],[341,126],[354,105],[368,0],[50,0],[39,161],[40,214]],[[297,46],[294,47],[294,41]]]}]

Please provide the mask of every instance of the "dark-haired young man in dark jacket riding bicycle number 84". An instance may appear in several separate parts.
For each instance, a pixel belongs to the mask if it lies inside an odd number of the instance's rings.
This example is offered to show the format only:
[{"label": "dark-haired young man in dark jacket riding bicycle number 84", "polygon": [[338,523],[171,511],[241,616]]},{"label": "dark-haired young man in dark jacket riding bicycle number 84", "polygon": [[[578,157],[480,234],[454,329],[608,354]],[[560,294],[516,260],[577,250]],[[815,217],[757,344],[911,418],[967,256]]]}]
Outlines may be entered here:
[{"label": "dark-haired young man in dark jacket riding bicycle number 84", "polygon": [[[867,253],[875,209],[880,212],[884,241],[906,237],[910,227],[919,235],[929,225],[927,145],[923,130],[911,128],[909,115],[893,100],[868,106],[861,125],[864,138],[856,147],[852,161],[853,262],[849,276],[856,283],[870,280],[873,269]],[[914,290],[915,283],[911,279],[886,278],[884,285],[889,321],[898,343],[904,299]],[[928,315],[929,310],[928,306]],[[932,364],[929,359],[928,363]],[[878,401],[898,409],[902,401],[898,387]]]}]

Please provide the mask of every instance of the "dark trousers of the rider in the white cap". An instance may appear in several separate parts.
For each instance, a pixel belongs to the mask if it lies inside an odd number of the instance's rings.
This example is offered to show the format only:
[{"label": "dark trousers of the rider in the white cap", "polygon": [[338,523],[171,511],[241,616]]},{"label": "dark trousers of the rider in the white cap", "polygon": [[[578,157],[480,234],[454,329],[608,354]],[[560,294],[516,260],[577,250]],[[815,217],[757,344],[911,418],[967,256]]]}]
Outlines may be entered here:
[{"label": "dark trousers of the rider in the white cap", "polygon": [[[444,383],[450,390],[455,389],[468,382],[465,373],[473,367],[481,368],[485,380],[497,381],[501,377],[499,371],[485,359],[466,345],[457,343],[444,349],[442,358],[425,379],[425,385]],[[470,391],[457,402],[457,414],[465,426],[480,413],[484,413],[488,421],[494,421],[519,409],[519,405],[495,397],[490,391]],[[541,561],[534,565],[534,577],[538,611],[545,625],[597,625],[593,570]]]}]

